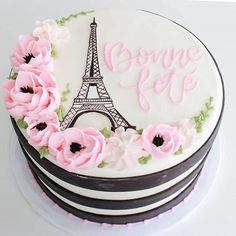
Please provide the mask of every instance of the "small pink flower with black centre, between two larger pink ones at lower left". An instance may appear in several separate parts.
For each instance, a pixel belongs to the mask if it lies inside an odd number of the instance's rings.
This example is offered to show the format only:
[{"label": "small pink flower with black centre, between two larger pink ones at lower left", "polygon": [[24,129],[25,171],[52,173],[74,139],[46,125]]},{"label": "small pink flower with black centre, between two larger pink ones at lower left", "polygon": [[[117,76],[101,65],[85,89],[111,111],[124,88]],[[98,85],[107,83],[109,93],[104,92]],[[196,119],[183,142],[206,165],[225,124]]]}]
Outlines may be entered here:
[{"label": "small pink flower with black centre, between two larger pink ones at lower left", "polygon": [[29,144],[35,147],[48,146],[49,137],[60,130],[59,120],[55,112],[43,116],[30,116],[24,119],[28,124]]}]

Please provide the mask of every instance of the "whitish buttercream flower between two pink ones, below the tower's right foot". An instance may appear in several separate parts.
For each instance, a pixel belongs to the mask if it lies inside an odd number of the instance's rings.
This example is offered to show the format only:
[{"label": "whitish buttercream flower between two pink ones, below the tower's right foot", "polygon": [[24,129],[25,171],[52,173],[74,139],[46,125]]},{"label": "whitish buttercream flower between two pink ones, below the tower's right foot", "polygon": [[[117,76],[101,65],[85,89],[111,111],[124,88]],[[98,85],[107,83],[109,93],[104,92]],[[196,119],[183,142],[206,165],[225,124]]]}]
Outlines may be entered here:
[{"label": "whitish buttercream flower between two pink ones, below the tower's right foot", "polygon": [[119,127],[107,139],[104,161],[117,170],[133,168],[138,165],[138,158],[147,156],[141,136],[133,129]]}]

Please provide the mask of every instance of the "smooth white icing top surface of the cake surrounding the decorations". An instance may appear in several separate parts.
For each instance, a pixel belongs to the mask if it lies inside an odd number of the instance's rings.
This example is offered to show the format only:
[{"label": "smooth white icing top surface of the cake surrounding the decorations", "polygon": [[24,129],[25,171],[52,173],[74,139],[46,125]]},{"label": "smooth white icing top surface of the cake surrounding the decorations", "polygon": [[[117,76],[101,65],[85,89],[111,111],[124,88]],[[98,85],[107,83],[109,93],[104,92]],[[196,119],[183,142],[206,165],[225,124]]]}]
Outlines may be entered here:
[{"label": "smooth white icing top surface of the cake surrounding the decorations", "polygon": [[[72,106],[73,99],[78,95],[82,84],[90,34],[89,25],[94,16],[97,22],[99,65],[104,84],[113,99],[115,108],[132,125],[145,128],[150,124],[171,124],[185,118],[192,118],[199,114],[210,96],[214,98],[214,111],[204,124],[203,131],[198,134],[198,138],[184,150],[182,155],[152,159],[149,165],[123,171],[96,168],[92,171],[79,170],[77,172],[95,176],[131,176],[156,172],[182,162],[208,139],[221,113],[222,82],[213,59],[198,39],[166,18],[136,10],[96,11],[67,23],[66,26],[71,32],[70,42],[58,49],[55,76],[62,90],[68,82],[72,88],[68,102],[65,103],[66,111],[69,111]],[[109,61],[109,55],[105,52],[107,45],[115,47],[112,52],[109,52],[112,54],[110,57],[113,60],[113,69],[107,65]],[[140,50],[143,51],[144,56],[138,58]],[[180,56],[172,61],[173,50],[176,52],[183,50],[182,61]],[[191,50],[193,62],[190,61],[186,66],[181,66],[181,62],[188,61],[190,57],[188,53],[190,54]],[[151,56],[147,56],[154,52],[160,54],[157,63],[152,61]],[[137,63],[138,60],[140,64]],[[165,61],[167,68],[163,66]],[[128,67],[129,63],[132,64],[131,68],[123,72],[122,70]],[[146,72],[149,76],[144,75],[147,82],[145,81],[143,88],[138,92],[134,86],[137,86],[142,70],[149,71]],[[170,82],[170,73],[176,74],[172,77],[172,82]],[[196,85],[188,92],[183,92],[184,78],[187,75],[192,75],[193,84]],[[154,91],[154,84],[158,79],[160,81],[161,77],[168,84],[160,94],[157,94]],[[127,88],[121,87],[120,83]],[[150,105],[149,111],[144,111],[146,107],[140,105],[139,93],[143,93],[144,100]],[[183,99],[180,101],[182,96]],[[76,126],[102,129],[109,127],[110,122],[101,114],[87,113],[78,118]]]}]

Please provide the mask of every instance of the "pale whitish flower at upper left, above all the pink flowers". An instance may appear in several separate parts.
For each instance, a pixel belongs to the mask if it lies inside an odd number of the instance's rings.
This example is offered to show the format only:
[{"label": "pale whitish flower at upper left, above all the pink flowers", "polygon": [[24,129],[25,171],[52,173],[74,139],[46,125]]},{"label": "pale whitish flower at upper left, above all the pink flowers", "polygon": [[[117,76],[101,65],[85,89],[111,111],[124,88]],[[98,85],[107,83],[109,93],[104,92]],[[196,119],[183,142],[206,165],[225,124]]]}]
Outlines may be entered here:
[{"label": "pale whitish flower at upper left, above all the pink flowers", "polygon": [[60,45],[70,38],[69,30],[65,26],[60,26],[55,20],[37,21],[33,36],[39,39],[47,39],[53,45]]}]

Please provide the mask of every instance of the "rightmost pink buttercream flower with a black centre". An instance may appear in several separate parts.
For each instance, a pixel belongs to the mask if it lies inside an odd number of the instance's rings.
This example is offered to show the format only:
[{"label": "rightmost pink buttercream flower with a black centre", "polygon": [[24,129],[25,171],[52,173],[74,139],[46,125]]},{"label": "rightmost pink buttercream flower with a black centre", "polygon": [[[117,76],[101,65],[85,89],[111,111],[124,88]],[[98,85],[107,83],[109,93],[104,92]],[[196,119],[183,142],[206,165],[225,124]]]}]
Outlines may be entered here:
[{"label": "rightmost pink buttercream flower with a black centre", "polygon": [[181,145],[177,128],[160,124],[148,126],[142,135],[143,146],[153,157],[175,153]]}]

